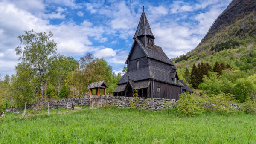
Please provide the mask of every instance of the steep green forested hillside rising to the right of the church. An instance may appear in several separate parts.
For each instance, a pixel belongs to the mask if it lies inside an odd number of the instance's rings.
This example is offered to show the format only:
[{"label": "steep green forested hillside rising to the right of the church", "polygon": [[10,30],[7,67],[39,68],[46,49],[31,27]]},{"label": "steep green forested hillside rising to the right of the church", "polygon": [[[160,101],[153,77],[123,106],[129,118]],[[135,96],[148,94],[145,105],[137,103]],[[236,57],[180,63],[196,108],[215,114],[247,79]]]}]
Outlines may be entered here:
[{"label": "steep green forested hillside rising to the right of the church", "polygon": [[233,0],[201,43],[174,58],[179,77],[196,92],[256,98],[256,3]]}]

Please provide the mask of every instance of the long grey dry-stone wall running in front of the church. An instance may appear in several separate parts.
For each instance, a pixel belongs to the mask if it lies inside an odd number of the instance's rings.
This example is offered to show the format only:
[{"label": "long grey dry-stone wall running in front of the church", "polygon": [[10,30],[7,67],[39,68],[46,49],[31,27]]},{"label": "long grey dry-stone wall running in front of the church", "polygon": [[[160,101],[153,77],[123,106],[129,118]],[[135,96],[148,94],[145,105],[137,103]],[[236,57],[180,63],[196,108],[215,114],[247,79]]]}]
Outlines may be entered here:
[{"label": "long grey dry-stone wall running in front of the church", "polygon": [[[69,98],[63,100],[55,100],[50,102],[50,109],[58,109],[67,107],[68,101],[79,100],[79,103],[75,103],[74,105],[80,105],[82,101],[83,106],[90,105],[90,97],[79,97],[79,98]],[[101,96],[99,98],[98,104],[114,104],[116,107],[130,107],[130,102],[134,101],[134,97],[121,97],[121,96]],[[139,107],[143,107],[145,109],[159,110],[164,109],[165,105],[175,104],[175,99],[160,99],[160,98],[139,98]],[[48,101],[44,101],[41,103],[35,104],[27,104],[27,109],[39,109],[42,107],[48,107]],[[24,110],[24,107],[9,107],[6,109],[6,112],[15,112]]]}]

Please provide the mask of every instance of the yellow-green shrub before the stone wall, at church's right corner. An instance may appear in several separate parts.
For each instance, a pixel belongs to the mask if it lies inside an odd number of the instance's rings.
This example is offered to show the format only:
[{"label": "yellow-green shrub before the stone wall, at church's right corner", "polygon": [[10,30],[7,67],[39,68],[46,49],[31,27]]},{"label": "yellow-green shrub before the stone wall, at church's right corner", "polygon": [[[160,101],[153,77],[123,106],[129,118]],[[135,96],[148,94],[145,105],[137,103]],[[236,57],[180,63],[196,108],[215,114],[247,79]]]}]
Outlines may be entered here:
[{"label": "yellow-green shrub before the stone wall, at church's right corner", "polygon": [[184,92],[180,94],[180,99],[176,102],[176,114],[179,116],[192,117],[204,112],[204,107],[197,101],[198,95]]}]

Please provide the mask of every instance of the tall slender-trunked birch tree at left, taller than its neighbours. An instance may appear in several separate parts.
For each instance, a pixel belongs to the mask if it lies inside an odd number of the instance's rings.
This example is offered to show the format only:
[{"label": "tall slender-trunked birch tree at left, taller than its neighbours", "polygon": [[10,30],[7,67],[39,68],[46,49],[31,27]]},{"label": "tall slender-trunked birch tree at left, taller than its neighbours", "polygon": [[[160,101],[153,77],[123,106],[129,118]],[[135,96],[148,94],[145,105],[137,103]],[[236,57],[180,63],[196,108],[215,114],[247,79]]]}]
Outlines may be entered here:
[{"label": "tall slender-trunked birch tree at left, taller than its neighbours", "polygon": [[[52,32],[48,35],[46,32],[25,31],[18,39],[24,45],[23,48],[18,46],[15,51],[20,57],[21,62],[16,67],[16,71],[28,73],[23,80],[30,82],[35,89],[39,88],[41,101],[44,96],[44,86],[49,81],[49,70],[51,69],[53,59],[56,55],[56,43],[53,39]],[[24,86],[21,84],[20,86]]]}]

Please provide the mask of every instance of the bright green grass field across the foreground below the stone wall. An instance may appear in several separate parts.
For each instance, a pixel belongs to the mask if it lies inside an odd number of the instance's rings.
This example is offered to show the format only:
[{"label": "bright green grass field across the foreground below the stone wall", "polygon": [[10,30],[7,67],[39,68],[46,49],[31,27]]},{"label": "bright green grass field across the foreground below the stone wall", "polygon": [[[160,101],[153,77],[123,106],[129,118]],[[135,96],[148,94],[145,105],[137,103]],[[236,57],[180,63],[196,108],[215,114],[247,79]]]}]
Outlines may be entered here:
[{"label": "bright green grass field across the foreground below the stone wall", "polygon": [[84,107],[7,113],[0,143],[256,143],[256,115],[180,118],[167,110]]}]

